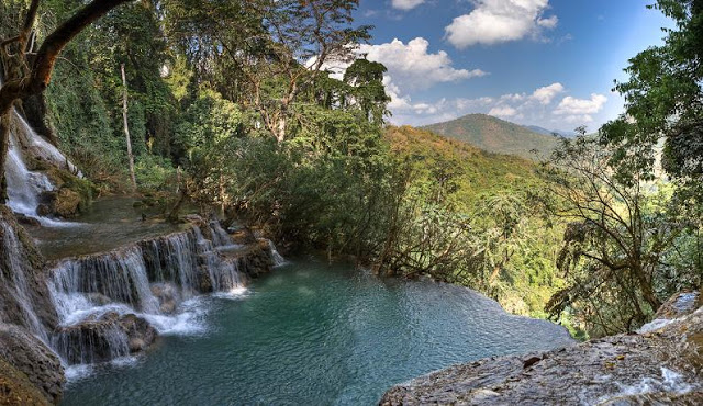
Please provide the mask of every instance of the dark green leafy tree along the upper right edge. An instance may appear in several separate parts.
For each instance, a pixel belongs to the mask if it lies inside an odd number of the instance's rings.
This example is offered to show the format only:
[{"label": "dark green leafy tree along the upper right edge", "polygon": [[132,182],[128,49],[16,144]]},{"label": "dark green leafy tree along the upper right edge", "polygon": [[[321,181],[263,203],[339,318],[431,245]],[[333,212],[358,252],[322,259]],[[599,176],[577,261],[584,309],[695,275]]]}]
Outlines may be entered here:
[{"label": "dark green leafy tree along the upper right edge", "polygon": [[[703,204],[703,0],[658,0],[652,9],[673,19],[661,46],[629,60],[629,79],[616,82],[625,113],[601,129],[612,160],[651,176],[661,163],[693,201]],[[631,169],[628,169],[631,170]]]}]

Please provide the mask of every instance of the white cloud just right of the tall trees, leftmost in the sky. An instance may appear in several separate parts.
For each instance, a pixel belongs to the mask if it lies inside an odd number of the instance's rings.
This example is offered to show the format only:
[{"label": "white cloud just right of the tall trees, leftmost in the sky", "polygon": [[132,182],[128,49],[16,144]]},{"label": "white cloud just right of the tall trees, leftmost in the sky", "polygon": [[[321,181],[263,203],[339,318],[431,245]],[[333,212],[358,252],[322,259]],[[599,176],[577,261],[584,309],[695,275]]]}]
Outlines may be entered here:
[{"label": "white cloud just right of the tall trees, leftmost in the sky", "polygon": [[404,44],[400,40],[380,45],[360,45],[359,53],[369,60],[383,64],[393,83],[403,91],[427,89],[440,82],[451,82],[488,75],[481,69],[455,69],[446,52],[428,53],[429,42],[417,37]]}]

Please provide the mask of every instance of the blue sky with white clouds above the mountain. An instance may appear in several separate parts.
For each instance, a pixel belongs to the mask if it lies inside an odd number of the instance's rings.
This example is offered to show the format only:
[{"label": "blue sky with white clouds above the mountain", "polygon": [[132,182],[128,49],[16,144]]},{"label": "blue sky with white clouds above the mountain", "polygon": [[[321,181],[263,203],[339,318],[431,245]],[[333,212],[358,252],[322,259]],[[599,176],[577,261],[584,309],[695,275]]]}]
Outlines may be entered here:
[{"label": "blue sky with white clouds above the mountain", "polygon": [[627,59],[661,43],[654,0],[361,0],[361,47],[388,68],[391,122],[489,113],[548,129],[596,129],[623,110]]}]

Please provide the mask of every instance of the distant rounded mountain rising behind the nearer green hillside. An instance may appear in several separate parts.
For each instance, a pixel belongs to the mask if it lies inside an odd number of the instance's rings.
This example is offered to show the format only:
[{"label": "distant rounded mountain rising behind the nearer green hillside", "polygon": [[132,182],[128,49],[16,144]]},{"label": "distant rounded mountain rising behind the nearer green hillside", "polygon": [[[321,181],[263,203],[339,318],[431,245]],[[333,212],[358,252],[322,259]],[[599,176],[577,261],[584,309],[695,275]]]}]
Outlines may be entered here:
[{"label": "distant rounded mountain rising behind the nearer green hillside", "polygon": [[[547,156],[558,143],[551,135],[539,134],[486,114],[469,114],[422,128],[469,143],[490,153],[517,155],[528,159]],[[537,151],[536,156],[533,150]]]}]

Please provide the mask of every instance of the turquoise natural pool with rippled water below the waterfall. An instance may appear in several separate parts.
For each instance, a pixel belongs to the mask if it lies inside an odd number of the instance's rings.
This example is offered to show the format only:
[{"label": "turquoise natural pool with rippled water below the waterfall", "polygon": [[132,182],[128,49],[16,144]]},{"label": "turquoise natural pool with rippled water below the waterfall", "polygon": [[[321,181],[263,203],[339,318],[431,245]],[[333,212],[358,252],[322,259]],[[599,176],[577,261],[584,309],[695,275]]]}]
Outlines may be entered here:
[{"label": "turquoise natural pool with rippled water below the waterfall", "polygon": [[417,375],[571,343],[472,291],[298,260],[192,317],[136,360],[74,379],[65,405],[372,405]]}]

